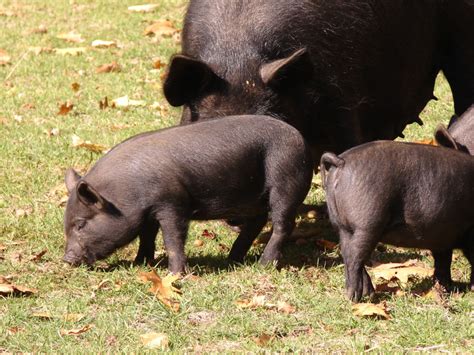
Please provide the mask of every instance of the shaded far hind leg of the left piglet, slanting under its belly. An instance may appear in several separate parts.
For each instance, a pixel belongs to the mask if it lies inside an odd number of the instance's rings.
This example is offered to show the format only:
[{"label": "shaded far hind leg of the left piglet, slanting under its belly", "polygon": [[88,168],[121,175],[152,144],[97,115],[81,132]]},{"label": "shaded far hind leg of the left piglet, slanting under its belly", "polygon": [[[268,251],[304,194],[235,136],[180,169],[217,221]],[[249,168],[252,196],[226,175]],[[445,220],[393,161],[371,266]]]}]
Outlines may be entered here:
[{"label": "shaded far hind leg of the left piglet, slanting under its belly", "polygon": [[247,218],[240,225],[240,233],[229,253],[229,259],[235,262],[242,262],[245,255],[252,246],[262,228],[267,223],[268,215],[261,215],[254,218]]}]

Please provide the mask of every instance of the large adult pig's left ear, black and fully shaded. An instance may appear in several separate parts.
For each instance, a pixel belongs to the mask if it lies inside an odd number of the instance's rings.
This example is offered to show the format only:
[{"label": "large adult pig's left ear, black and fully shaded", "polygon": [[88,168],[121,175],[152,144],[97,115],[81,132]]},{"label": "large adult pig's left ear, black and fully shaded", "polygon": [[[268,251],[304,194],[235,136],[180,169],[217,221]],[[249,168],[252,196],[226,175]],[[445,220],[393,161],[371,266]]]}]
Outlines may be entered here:
[{"label": "large adult pig's left ear, black and fully shaded", "polygon": [[219,77],[206,63],[178,54],[171,60],[163,91],[172,106],[182,106],[217,80]]}]

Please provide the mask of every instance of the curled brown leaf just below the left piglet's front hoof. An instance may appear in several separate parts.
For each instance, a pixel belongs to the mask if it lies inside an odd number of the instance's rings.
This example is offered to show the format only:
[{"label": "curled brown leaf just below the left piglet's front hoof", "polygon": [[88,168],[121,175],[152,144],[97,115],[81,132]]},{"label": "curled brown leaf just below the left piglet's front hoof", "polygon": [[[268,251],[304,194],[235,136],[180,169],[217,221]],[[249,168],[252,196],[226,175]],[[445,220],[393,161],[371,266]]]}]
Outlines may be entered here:
[{"label": "curled brown leaf just below the left piglet's front hoof", "polygon": [[169,274],[162,279],[156,271],[152,269],[150,272],[140,273],[139,276],[142,281],[152,283],[149,291],[164,305],[175,312],[179,311],[179,302],[176,301],[175,298],[180,297],[181,290],[173,286],[173,282],[180,279],[180,275]]}]

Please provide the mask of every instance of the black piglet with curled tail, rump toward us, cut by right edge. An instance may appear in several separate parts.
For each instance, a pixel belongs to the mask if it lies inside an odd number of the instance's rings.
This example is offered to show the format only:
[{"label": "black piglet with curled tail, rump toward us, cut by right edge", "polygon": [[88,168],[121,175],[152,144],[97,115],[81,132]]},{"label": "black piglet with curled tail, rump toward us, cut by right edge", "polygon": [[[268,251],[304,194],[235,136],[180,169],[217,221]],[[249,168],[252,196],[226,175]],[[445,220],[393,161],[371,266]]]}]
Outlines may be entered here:
[{"label": "black piglet with curled tail, rump toward us, cut by right edge", "polygon": [[462,249],[474,290],[474,157],[443,147],[379,141],[340,156],[324,153],[321,173],[331,223],[339,233],[346,291],[360,300],[374,288],[365,270],[378,242],[432,251],[434,276],[451,283]]}]

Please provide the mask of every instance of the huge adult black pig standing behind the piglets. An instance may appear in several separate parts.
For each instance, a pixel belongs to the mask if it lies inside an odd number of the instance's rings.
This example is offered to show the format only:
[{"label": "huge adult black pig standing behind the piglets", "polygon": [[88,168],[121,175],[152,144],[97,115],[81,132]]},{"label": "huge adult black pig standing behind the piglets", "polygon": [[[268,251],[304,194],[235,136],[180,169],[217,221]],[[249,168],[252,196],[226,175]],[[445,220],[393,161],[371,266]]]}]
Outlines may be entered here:
[{"label": "huge adult black pig standing behind the piglets", "polygon": [[182,123],[266,114],[315,158],[394,139],[443,70],[456,113],[474,102],[473,0],[191,0],[164,83]]}]

